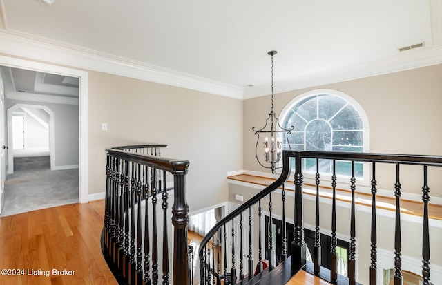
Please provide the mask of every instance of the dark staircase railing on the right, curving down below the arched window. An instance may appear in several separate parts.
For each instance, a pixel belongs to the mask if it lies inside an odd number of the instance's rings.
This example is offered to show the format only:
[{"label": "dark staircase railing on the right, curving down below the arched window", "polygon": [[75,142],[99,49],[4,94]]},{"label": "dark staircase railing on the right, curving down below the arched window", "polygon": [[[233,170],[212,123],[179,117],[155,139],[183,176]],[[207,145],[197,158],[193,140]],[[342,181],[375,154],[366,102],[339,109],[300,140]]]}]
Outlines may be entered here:
[{"label": "dark staircase railing on the right, curving down below the arched window", "polygon": [[[288,256],[291,255],[291,273],[282,274],[284,276],[293,276],[300,269],[306,268],[307,245],[305,241],[304,229],[304,207],[303,207],[303,184],[304,176],[302,170],[307,162],[314,161],[313,168],[316,167],[316,173],[313,173],[316,184],[316,206],[314,209],[315,231],[314,231],[314,250],[311,253],[313,266],[311,273],[317,275],[334,284],[356,284],[356,171],[355,163],[364,163],[371,172],[371,245],[369,249],[359,249],[360,256],[370,257],[369,284],[376,284],[377,274],[377,226],[376,226],[376,193],[377,183],[376,173],[377,167],[384,164],[395,165],[395,171],[390,175],[391,185],[394,188],[394,197],[396,199],[395,212],[395,229],[394,229],[394,284],[402,284],[402,260],[401,260],[401,167],[403,165],[416,165],[421,168],[422,174],[419,174],[422,186],[422,284],[430,284],[430,231],[429,231],[429,201],[430,201],[430,182],[428,179],[428,169],[431,167],[442,166],[442,156],[408,156],[408,155],[391,155],[391,154],[358,154],[345,152],[317,152],[317,151],[283,151],[282,154],[282,173],[280,177],[260,191],[256,196],[244,202],[238,209],[232,211],[220,222],[215,224],[213,229],[204,237],[200,244],[200,284],[272,284],[276,285],[275,278],[267,278],[264,275],[271,275],[273,268],[280,263],[284,263]],[[319,165],[321,162],[328,161],[331,169],[331,179],[321,180]],[[291,162],[294,162],[294,169],[291,169]],[[336,165],[347,162],[349,165],[349,177],[340,177],[336,172]],[[309,165],[311,168],[312,166]],[[309,169],[310,169],[309,168]],[[360,168],[359,168],[360,169]],[[383,176],[385,176],[384,167]],[[416,169],[416,171],[418,171]],[[294,203],[288,205],[286,203],[287,191],[286,184],[289,176],[293,174]],[[338,254],[336,224],[338,216],[336,215],[336,191],[338,182],[345,180],[349,184],[350,199],[350,222],[349,222],[349,253],[348,253],[348,275],[343,277],[338,274]],[[331,219],[332,237],[330,239],[329,248],[329,270],[322,267],[321,264],[321,241],[320,241],[320,189],[326,187],[332,192],[332,212],[327,213]],[[276,200],[276,190],[280,200]],[[272,200],[273,199],[273,200]],[[266,213],[269,215],[269,221],[273,221],[274,207],[278,205],[278,211],[282,210],[282,237],[280,244],[275,244],[275,237],[272,230],[265,231],[262,229],[262,213],[263,207],[268,204]],[[286,211],[286,209],[289,209]],[[311,210],[311,209],[309,209]],[[252,215],[253,211],[258,211],[258,217]],[[311,211],[309,211],[310,213]],[[289,214],[287,214],[289,213]],[[293,213],[293,215],[291,214]],[[249,217],[248,220],[243,219]],[[252,217],[253,216],[253,217]],[[286,219],[290,217],[294,220],[293,238],[289,240],[289,233],[286,229]],[[239,221],[239,222],[238,222]],[[271,222],[273,223],[273,222]],[[244,225],[245,224],[245,225]],[[267,226],[272,229],[272,226]],[[253,230],[258,229],[258,242],[253,240]],[[229,231],[229,232],[228,232]],[[227,239],[229,236],[229,239]],[[262,237],[265,237],[265,246]],[[278,247],[278,255],[275,254],[274,247]],[[407,246],[416,246],[416,244],[408,244]],[[290,250],[289,250],[290,248]],[[238,254],[239,253],[239,254]],[[263,253],[267,253],[267,260]],[[276,258],[275,258],[276,257]],[[258,260],[253,260],[257,258]],[[275,259],[275,260],[273,260]],[[245,264],[245,265],[244,265]],[[268,266],[268,268],[266,268]],[[287,266],[286,266],[287,267]],[[256,270],[255,270],[256,268]],[[274,272],[274,271],[273,271]],[[256,275],[256,276],[255,276]],[[278,271],[278,275],[281,272]],[[288,278],[289,278],[288,277]],[[284,279],[285,278],[285,279]],[[252,280],[252,281],[250,281]],[[270,280],[270,281],[269,281]],[[287,277],[278,279],[280,284],[287,282]],[[378,280],[381,282],[381,280]],[[278,283],[279,284],[279,283]]]}]

